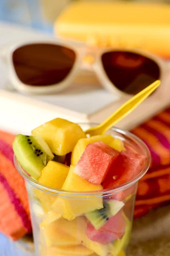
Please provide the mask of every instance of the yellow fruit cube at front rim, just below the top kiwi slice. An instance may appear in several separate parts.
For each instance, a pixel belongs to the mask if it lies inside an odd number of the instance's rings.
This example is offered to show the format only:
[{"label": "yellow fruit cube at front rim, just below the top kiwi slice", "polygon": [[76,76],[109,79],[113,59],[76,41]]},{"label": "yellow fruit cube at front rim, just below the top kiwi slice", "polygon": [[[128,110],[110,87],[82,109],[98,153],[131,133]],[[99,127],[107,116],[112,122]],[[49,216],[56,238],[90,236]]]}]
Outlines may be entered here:
[{"label": "yellow fruit cube at front rim, just below the top kiwi slice", "polygon": [[[51,188],[61,189],[68,175],[68,172],[68,166],[62,163],[49,161],[44,169],[42,169],[42,173],[38,181],[43,185],[50,186]],[[54,201],[54,198],[56,197],[40,189],[35,189],[35,193],[40,199],[45,212],[48,212],[51,202]]]}]

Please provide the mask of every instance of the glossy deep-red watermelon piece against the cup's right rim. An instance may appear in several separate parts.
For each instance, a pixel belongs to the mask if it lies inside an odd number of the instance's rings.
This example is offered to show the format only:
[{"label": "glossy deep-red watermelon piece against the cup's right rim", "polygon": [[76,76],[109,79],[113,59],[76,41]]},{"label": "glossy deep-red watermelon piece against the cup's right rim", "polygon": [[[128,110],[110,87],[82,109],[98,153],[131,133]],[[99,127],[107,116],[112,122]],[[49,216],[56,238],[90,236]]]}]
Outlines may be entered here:
[{"label": "glossy deep-red watermelon piece against the cup's right rim", "polygon": [[[145,163],[146,156],[134,153],[133,151],[122,151],[116,159],[113,169],[102,183],[103,189],[114,188],[132,180],[142,171]],[[126,191],[118,195],[113,195],[113,198],[122,201],[125,198],[123,195],[126,195]]]}]

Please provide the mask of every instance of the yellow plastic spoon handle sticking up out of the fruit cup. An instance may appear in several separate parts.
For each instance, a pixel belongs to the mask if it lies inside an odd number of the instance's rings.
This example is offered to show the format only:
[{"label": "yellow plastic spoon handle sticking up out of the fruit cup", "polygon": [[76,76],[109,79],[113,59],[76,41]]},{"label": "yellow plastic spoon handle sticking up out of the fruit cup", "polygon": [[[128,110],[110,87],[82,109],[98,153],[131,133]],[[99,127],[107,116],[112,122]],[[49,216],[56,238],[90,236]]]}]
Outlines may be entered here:
[{"label": "yellow plastic spoon handle sticking up out of the fruit cup", "polygon": [[113,125],[122,120],[125,116],[130,114],[140,103],[144,101],[154,90],[160,85],[161,81],[156,80],[149,86],[147,86],[144,90],[137,93],[127,102],[125,102],[120,108],[118,108],[111,116],[105,119],[100,125],[95,127],[91,127],[85,131],[86,134],[90,136],[95,136],[99,134],[104,134],[107,130],[109,130]]}]

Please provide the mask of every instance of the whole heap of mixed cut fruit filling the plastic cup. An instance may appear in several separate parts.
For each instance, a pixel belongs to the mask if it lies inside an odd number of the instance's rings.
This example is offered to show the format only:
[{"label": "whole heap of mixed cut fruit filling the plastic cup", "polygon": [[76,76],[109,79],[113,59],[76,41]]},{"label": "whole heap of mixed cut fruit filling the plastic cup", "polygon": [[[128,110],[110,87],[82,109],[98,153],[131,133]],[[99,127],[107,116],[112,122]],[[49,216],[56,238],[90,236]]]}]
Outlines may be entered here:
[{"label": "whole heap of mixed cut fruit filling the plastic cup", "polygon": [[60,118],[18,134],[13,149],[17,168],[32,180],[37,256],[127,255],[137,187],[128,182],[145,168],[145,154],[121,136],[88,137]]}]

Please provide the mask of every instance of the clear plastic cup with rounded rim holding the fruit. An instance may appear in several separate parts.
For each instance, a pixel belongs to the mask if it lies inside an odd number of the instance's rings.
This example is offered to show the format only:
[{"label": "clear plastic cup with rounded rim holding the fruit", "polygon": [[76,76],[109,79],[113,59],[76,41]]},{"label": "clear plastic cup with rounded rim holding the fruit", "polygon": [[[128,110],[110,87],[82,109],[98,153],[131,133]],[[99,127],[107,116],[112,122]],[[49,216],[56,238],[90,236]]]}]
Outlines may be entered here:
[{"label": "clear plastic cup with rounded rim holding the fruit", "polygon": [[[84,130],[94,126],[80,125]],[[136,190],[139,179],[150,166],[150,152],[130,132],[112,128],[108,134],[122,140],[127,150],[147,157],[139,175],[113,189],[91,192],[52,189],[31,178],[14,157],[18,172],[26,180],[36,256],[128,255]]]}]

